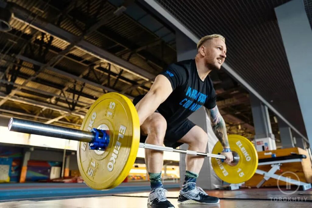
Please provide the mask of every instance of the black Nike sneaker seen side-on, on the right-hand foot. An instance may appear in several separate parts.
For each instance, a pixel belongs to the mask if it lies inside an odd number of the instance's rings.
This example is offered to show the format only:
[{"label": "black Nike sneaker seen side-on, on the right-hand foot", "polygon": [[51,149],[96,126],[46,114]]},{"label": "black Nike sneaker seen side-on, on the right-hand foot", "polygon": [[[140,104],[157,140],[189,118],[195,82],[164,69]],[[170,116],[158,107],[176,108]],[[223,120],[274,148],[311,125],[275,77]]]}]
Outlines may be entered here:
[{"label": "black Nike sneaker seen side-on, on the right-hand foot", "polygon": [[219,204],[218,197],[209,196],[201,187],[195,186],[192,190],[182,191],[178,197],[180,204]]}]

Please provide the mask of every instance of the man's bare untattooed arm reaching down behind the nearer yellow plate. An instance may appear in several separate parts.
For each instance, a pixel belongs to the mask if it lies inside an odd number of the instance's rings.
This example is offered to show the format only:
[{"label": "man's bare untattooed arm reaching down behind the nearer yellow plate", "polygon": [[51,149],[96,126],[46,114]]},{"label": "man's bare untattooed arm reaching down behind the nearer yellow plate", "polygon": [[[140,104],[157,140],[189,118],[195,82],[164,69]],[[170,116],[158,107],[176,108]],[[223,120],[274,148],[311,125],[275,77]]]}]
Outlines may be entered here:
[{"label": "man's bare untattooed arm reaching down behind the nearer yellow plate", "polygon": [[140,125],[142,125],[158,106],[172,93],[172,86],[167,77],[158,75],[155,78],[149,92],[135,105],[139,114]]}]

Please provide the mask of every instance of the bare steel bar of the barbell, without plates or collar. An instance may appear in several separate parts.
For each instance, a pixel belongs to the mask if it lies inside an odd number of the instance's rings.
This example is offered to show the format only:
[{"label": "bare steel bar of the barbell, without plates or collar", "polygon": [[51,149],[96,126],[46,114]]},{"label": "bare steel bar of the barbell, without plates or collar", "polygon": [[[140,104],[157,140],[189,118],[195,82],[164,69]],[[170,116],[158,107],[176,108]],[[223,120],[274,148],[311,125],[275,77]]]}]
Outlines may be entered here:
[{"label": "bare steel bar of the barbell, without plates or collar", "polygon": [[[51,124],[40,123],[36,121],[29,121],[24,119],[17,119],[11,118],[9,125],[9,131],[14,132],[21,132],[21,133],[29,133],[29,134],[36,134],[41,136],[47,137],[55,137],[55,138],[62,138],[62,139],[70,139],[80,142],[92,142],[94,139],[94,134],[88,131],[82,131],[74,128],[67,128],[61,127]],[[175,149],[170,147],[158,146],[154,144],[146,144],[140,143],[140,148],[145,149],[153,149],[159,151],[166,151],[166,152],[178,152],[187,155],[199,155],[205,157],[215,157],[220,159],[226,159],[224,155],[217,155],[217,154],[210,154],[204,152],[196,152],[191,150],[182,150],[182,149]]]}]

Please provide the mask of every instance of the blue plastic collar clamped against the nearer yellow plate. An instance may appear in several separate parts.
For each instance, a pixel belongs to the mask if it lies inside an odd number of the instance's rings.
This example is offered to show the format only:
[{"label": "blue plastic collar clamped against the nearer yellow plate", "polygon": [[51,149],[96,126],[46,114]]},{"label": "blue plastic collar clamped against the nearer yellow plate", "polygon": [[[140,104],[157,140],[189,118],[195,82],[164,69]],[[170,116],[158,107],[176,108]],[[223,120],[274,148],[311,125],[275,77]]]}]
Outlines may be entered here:
[{"label": "blue plastic collar clamped against the nearer yellow plate", "polygon": [[89,149],[93,150],[105,150],[110,143],[109,131],[92,128],[93,139],[90,142]]}]

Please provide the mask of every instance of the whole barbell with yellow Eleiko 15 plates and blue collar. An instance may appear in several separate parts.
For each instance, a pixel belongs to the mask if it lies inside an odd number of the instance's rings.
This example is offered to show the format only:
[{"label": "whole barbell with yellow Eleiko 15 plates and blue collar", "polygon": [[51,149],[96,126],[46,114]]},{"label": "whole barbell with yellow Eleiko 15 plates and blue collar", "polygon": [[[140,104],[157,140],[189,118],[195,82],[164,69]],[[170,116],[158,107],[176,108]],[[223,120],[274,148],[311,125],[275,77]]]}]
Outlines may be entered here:
[{"label": "whole barbell with yellow Eleiko 15 plates and blue collar", "polygon": [[139,147],[158,151],[211,157],[216,175],[228,183],[249,180],[256,172],[258,155],[254,145],[240,135],[228,135],[234,160],[226,159],[217,142],[212,153],[175,149],[140,143],[138,113],[129,98],[119,93],[106,93],[90,107],[81,130],[11,118],[10,131],[79,141],[77,162],[85,183],[93,189],[107,190],[118,186],[128,176]]}]

